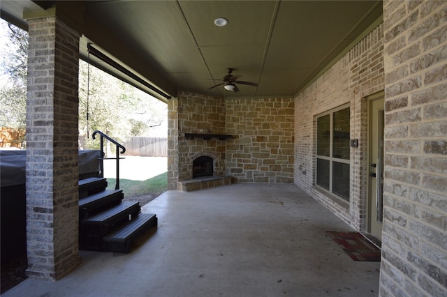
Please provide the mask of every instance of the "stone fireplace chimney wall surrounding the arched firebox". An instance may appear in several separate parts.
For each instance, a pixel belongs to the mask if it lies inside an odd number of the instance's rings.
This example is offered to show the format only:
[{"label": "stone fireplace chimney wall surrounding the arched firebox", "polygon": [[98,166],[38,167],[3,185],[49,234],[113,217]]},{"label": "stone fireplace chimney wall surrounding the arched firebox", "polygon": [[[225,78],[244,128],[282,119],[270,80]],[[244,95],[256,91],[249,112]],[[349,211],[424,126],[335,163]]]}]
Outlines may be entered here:
[{"label": "stone fireplace chimney wall surrounding the arched firebox", "polygon": [[226,134],[222,98],[182,92],[168,102],[168,188],[191,179],[192,161],[200,155],[214,158],[214,175],[225,174],[226,140],[186,139],[184,133]]}]

